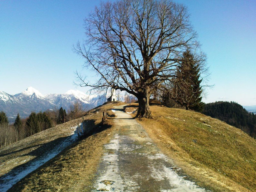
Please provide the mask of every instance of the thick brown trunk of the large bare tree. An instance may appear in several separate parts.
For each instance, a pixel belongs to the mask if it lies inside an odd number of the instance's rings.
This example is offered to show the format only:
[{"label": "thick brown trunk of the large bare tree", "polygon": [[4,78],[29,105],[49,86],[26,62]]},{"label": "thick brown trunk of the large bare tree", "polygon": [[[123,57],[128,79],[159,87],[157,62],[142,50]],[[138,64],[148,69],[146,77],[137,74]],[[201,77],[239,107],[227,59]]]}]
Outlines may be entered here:
[{"label": "thick brown trunk of the large bare tree", "polygon": [[136,118],[152,118],[151,111],[149,110],[149,87],[143,89],[142,92],[139,92],[138,96],[139,109],[136,115]]}]

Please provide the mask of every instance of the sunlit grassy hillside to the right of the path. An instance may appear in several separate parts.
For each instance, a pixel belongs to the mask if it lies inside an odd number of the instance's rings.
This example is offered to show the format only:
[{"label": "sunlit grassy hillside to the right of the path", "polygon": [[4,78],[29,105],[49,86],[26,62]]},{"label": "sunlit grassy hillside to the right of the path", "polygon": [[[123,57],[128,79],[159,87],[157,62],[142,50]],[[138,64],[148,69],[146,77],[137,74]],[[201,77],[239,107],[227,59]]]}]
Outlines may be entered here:
[{"label": "sunlit grassy hillside to the right of the path", "polygon": [[[136,105],[126,110],[133,111]],[[150,109],[154,118],[138,122],[199,185],[214,191],[256,191],[255,139],[201,113],[159,106]]]}]

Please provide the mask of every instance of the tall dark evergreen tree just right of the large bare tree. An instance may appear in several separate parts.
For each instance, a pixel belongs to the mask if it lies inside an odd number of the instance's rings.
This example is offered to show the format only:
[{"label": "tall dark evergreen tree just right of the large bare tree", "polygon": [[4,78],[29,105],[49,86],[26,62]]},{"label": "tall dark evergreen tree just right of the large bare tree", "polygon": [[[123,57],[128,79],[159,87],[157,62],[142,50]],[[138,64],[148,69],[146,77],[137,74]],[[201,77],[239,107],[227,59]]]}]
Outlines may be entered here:
[{"label": "tall dark evergreen tree just right of the large bare tree", "polygon": [[174,100],[184,106],[186,110],[201,111],[203,108],[201,82],[200,63],[190,50],[187,50],[183,53],[181,63],[177,67],[172,89]]}]

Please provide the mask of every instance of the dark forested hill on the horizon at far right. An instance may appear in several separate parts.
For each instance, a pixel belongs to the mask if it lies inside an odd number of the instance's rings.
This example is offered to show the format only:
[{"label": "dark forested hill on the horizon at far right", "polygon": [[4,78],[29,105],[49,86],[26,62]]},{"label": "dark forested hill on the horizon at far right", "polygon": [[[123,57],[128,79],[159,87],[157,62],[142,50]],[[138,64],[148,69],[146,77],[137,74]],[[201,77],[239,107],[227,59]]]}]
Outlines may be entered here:
[{"label": "dark forested hill on the horizon at far right", "polygon": [[232,101],[216,101],[204,105],[203,114],[222,120],[256,138],[256,115]]}]

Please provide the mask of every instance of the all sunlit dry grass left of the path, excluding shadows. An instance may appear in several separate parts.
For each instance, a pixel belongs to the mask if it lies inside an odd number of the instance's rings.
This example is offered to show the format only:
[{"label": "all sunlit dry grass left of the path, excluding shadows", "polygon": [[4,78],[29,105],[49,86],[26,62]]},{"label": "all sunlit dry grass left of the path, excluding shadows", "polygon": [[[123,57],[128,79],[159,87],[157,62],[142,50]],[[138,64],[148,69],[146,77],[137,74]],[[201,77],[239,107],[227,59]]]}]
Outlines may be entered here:
[{"label": "all sunlit dry grass left of the path, excluding shadows", "polygon": [[[100,124],[102,112],[121,104],[123,103],[109,102],[90,110],[85,119],[94,121],[91,135],[67,147],[59,155],[16,183],[10,191],[82,191],[82,189],[89,191],[92,178],[94,178],[93,173],[103,153],[103,145],[112,136],[112,120],[106,120],[104,126]],[[27,156],[25,155],[26,158],[31,154],[33,156],[33,151],[38,145],[41,148],[44,146],[42,150],[47,150],[47,147],[50,146],[45,145],[45,143],[70,134],[70,127],[75,123],[74,120],[58,125],[1,149],[1,154],[10,153],[4,156],[3,161],[8,162],[10,158],[16,158],[16,162],[21,162],[21,154],[27,154]],[[21,142],[28,144],[18,148]],[[8,164],[8,166],[2,166],[6,170],[1,170],[1,174],[3,175],[15,166],[17,166],[15,162],[11,165]]]}]

